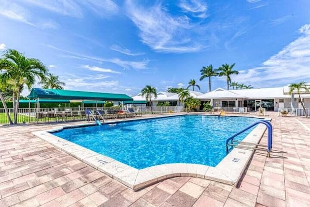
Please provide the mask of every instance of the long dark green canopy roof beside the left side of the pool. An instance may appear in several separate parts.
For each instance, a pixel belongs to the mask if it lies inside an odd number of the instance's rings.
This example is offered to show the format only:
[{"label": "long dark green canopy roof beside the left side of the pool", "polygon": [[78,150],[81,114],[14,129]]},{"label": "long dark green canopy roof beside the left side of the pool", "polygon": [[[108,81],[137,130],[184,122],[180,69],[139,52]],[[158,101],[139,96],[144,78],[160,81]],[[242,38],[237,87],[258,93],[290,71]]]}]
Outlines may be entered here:
[{"label": "long dark green canopy roof beside the left side of the pool", "polygon": [[32,88],[29,98],[69,99],[69,100],[106,100],[132,101],[132,97],[125,94],[109,94],[87,91],[69,91],[57,89]]}]

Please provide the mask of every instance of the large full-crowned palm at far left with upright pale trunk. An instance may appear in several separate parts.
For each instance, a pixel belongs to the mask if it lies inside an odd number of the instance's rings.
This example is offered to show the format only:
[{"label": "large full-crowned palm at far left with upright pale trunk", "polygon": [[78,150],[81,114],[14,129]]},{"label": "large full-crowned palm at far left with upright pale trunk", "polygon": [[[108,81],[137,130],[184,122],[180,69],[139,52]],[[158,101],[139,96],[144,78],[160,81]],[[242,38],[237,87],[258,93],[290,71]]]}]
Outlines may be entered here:
[{"label": "large full-crowned palm at far left with upright pale trunk", "polygon": [[30,89],[35,83],[35,78],[44,80],[47,68],[38,59],[27,58],[15,49],[7,49],[1,60],[1,80],[13,89],[14,124],[17,123],[17,111],[20,94],[24,85]]}]

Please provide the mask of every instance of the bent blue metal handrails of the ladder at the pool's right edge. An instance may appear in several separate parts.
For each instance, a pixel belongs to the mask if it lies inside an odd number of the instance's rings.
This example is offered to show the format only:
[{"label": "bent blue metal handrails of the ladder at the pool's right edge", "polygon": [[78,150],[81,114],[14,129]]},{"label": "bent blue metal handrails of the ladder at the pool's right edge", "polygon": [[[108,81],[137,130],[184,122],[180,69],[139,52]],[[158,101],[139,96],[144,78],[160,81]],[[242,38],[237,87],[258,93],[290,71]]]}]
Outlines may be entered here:
[{"label": "bent blue metal handrails of the ladder at the pool's right edge", "polygon": [[268,129],[268,143],[267,143],[267,152],[268,152],[268,157],[270,155],[270,151],[272,148],[272,125],[270,122],[266,121],[266,120],[260,120],[258,122],[255,122],[254,124],[242,129],[241,131],[239,131],[238,133],[235,133],[233,136],[231,136],[230,138],[228,138],[226,140],[226,152],[229,153],[232,148],[229,150],[228,149],[228,143],[231,141],[231,144],[233,144],[233,138],[235,138],[236,136],[238,136],[239,134],[242,134],[243,132],[247,131],[248,129],[258,125],[258,124],[264,124],[266,125],[267,129]]}]

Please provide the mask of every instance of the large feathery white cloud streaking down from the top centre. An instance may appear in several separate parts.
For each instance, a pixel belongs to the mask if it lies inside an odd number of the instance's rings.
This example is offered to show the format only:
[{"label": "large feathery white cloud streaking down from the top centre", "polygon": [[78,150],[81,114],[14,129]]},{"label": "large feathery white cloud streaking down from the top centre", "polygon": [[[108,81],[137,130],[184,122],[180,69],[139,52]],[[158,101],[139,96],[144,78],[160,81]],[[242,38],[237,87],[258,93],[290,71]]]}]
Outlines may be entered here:
[{"label": "large feathery white cloud streaking down from the top centre", "polygon": [[172,16],[161,4],[143,7],[130,0],[126,1],[126,9],[140,30],[141,41],[155,51],[185,53],[206,48],[195,35],[201,26],[191,23],[185,15]]}]

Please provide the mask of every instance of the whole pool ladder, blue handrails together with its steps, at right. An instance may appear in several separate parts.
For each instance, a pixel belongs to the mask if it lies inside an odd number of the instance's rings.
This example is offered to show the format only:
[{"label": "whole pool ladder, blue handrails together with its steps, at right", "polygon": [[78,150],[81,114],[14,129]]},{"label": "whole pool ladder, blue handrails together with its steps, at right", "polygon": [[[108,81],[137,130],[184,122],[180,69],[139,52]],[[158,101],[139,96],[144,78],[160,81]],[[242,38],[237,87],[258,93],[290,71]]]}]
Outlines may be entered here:
[{"label": "whole pool ladder, blue handrails together with its steps, at right", "polygon": [[[243,132],[247,131],[248,129],[250,129],[252,127],[255,127],[258,124],[264,124],[268,129],[267,145],[233,140],[236,136],[242,134]],[[228,154],[230,151],[232,151],[233,147],[241,148],[241,149],[248,149],[248,150],[266,151],[267,157],[270,157],[271,152],[273,152],[273,153],[285,153],[283,151],[272,149],[272,125],[270,122],[268,122],[266,120],[260,120],[258,122],[255,122],[254,124],[242,129],[238,133],[235,133],[233,136],[228,138],[226,140],[226,153]]]}]

